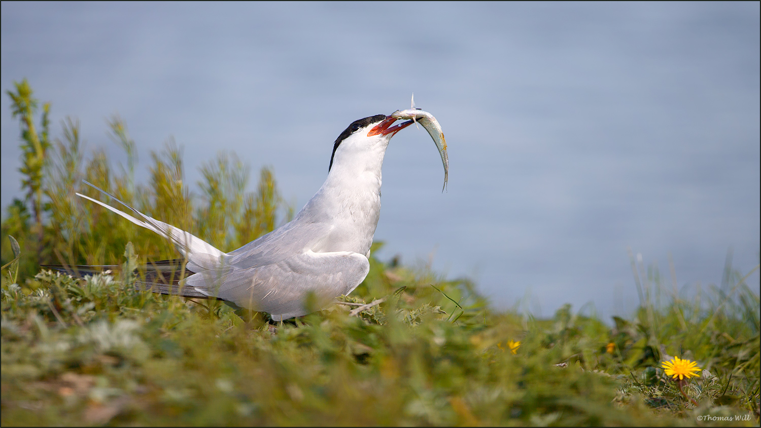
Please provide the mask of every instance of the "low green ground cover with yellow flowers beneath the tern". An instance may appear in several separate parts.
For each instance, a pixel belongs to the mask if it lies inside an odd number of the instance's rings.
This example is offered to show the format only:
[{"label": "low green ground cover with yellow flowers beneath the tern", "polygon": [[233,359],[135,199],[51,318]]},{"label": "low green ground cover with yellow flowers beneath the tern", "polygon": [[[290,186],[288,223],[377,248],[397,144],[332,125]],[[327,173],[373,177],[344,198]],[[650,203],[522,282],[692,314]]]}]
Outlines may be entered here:
[{"label": "low green ground cover with yellow flowers beneath the tern", "polygon": [[[372,258],[342,300],[384,303],[273,326],[118,274],[43,271],[2,287],[2,424],[757,426],[759,297],[734,285],[610,328],[570,306],[496,312],[468,281]],[[706,370],[686,386],[697,408],[658,367],[661,345]]]}]

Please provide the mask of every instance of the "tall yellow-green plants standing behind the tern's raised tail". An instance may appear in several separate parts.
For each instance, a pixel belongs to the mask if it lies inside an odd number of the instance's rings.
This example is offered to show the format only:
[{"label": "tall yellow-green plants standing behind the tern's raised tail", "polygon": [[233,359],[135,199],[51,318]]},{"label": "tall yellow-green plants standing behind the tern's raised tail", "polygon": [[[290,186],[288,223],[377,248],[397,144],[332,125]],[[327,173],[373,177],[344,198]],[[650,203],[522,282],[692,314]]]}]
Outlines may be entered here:
[{"label": "tall yellow-green plants standing behind the tern's raised tail", "polygon": [[[44,138],[38,138],[33,122],[39,102],[33,98],[27,81],[16,87],[16,93],[8,94],[14,102],[14,115],[21,112],[17,115],[21,116],[24,150],[20,171],[27,198],[14,200],[7,208],[2,222],[2,264],[13,258],[6,236],[14,236],[21,245],[21,284],[37,274],[40,265],[115,263],[128,242],[134,243],[143,264],[177,257],[174,246],[155,233],[75,196],[79,192],[101,198],[82,179],[225,251],[256,239],[292,217],[293,209],[282,199],[272,170],[264,168],[256,192],[246,192],[250,172],[234,161],[234,154],[220,152],[205,163],[201,169],[203,180],[199,182],[201,194],[191,194],[183,184],[182,153],[172,139],[161,151],[151,151],[148,184],[135,184],[135,142],[119,116],[110,118],[107,125],[112,140],[126,153],[127,166],[113,168],[102,147],[85,157],[75,119],[62,122],[62,138],[47,142],[49,103],[43,112]],[[40,145],[43,150],[33,150]]]}]

